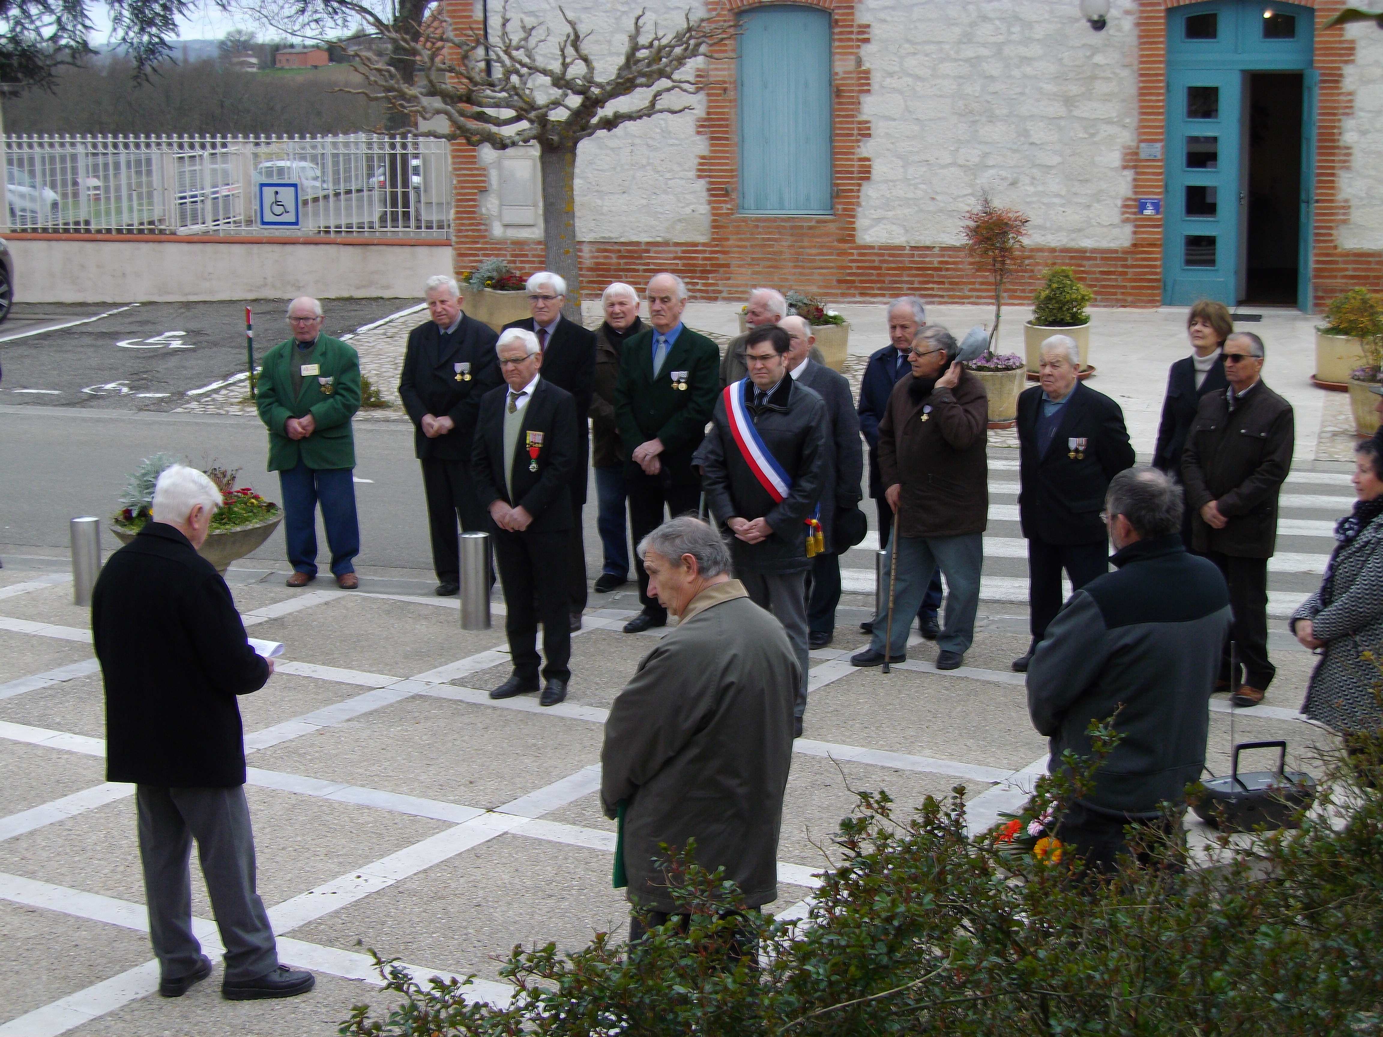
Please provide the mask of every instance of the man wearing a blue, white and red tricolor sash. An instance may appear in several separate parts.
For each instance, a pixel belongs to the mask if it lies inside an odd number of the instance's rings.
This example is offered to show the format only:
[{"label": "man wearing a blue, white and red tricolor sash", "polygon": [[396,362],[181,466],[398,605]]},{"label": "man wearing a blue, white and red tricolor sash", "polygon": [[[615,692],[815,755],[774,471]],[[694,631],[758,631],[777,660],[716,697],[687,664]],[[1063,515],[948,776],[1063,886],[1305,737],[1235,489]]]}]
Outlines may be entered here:
[{"label": "man wearing a blue, white and red tricolor sash", "polygon": [[822,545],[826,404],[788,376],[791,339],[757,328],[744,343],[750,375],[721,393],[697,451],[707,505],[730,531],[734,575],[783,624],[802,668],[794,737],[806,711],[806,574]]}]

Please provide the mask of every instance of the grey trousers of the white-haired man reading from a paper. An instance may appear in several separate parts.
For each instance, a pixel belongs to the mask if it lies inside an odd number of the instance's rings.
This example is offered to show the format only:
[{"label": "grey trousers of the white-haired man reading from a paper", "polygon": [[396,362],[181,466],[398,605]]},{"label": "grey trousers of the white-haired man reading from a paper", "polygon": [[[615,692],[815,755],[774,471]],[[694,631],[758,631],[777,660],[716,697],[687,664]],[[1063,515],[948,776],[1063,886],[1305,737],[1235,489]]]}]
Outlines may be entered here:
[{"label": "grey trousers of the white-haired man reading from a paper", "polygon": [[140,860],[149,939],[165,979],[195,972],[202,944],[192,935],[192,839],[225,944],[225,979],[254,979],[278,968],[274,931],[254,892],[254,835],[245,787],[138,785]]}]

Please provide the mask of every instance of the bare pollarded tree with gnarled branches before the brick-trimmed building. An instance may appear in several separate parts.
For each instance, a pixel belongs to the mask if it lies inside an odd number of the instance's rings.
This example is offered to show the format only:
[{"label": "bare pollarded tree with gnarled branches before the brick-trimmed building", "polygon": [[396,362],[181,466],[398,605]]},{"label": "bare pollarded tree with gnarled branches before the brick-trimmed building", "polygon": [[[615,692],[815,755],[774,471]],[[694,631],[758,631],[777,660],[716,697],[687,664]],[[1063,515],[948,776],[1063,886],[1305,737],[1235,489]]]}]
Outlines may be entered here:
[{"label": "bare pollarded tree with gnarled branches before the brick-trimmed building", "polygon": [[[353,3],[353,0],[344,0]],[[708,18],[683,15],[669,32],[646,25],[640,11],[615,68],[596,69],[589,41],[575,19],[557,8],[559,39],[544,24],[510,18],[508,6],[495,30],[454,35],[440,12],[423,24],[416,40],[360,6],[358,15],[394,47],[414,58],[414,75],[393,61],[361,53],[358,69],[369,84],[362,93],[419,119],[443,116],[445,130],[414,133],[503,151],[537,144],[542,169],[542,236],[546,267],[567,281],[567,308],[579,319],[581,271],[577,254],[574,174],[577,147],[597,133],[656,115],[692,111],[683,98],[696,94],[693,64],[733,29]],[[628,106],[617,101],[632,98]]]}]

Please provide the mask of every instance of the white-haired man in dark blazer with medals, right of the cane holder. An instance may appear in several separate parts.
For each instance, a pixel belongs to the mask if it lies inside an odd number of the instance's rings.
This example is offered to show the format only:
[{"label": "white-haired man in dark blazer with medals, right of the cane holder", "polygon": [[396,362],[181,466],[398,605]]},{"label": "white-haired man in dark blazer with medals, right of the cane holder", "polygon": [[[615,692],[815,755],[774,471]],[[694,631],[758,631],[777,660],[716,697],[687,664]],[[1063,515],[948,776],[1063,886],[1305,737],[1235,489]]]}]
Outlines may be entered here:
[{"label": "white-haired man in dark blazer with medals, right of the cane holder", "polygon": [[1134,462],[1123,411],[1080,383],[1079,365],[1075,339],[1051,336],[1041,344],[1041,384],[1018,397],[1018,517],[1028,538],[1033,636],[1028,653],[1014,660],[1019,673],[1061,611],[1061,571],[1073,590],[1109,571],[1101,509],[1109,480]]}]

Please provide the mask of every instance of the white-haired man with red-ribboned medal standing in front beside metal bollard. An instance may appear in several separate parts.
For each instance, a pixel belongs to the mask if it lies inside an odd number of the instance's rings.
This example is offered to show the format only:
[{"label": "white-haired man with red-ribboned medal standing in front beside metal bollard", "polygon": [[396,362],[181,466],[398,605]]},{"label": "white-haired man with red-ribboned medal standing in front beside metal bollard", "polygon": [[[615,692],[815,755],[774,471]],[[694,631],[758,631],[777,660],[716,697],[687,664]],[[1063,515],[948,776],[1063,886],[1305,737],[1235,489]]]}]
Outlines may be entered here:
[{"label": "white-haired man with red-ribboned medal standing in front beside metal bollard", "polygon": [[495,347],[508,386],[480,401],[470,455],[476,492],[490,512],[490,535],[505,589],[505,635],[513,672],[490,693],[512,698],[538,690],[542,624],[542,705],[567,697],[571,628],[560,572],[571,539],[571,470],[577,465],[577,405],[539,377],[544,355],[532,332],[506,329]]}]

